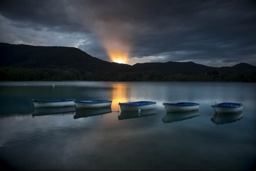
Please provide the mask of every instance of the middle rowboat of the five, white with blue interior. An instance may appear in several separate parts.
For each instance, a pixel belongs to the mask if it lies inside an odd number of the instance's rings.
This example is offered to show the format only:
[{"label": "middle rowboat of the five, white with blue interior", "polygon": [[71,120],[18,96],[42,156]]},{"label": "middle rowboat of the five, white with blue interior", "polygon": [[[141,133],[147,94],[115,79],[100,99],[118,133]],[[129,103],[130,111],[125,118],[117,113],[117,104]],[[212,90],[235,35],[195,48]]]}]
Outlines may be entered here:
[{"label": "middle rowboat of the five, white with blue interior", "polygon": [[118,103],[121,111],[133,111],[133,110],[148,110],[154,109],[157,102],[150,101],[137,101],[137,102],[127,102]]}]

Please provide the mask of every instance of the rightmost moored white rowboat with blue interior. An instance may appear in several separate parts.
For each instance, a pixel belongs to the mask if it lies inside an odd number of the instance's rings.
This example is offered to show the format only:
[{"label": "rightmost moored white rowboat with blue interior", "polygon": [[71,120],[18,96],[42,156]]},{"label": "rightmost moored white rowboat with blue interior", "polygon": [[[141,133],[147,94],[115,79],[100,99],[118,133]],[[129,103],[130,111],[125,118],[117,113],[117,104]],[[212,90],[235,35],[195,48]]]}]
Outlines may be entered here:
[{"label": "rightmost moored white rowboat with blue interior", "polygon": [[218,114],[225,114],[225,113],[240,113],[243,110],[244,104],[242,103],[217,103],[211,105],[214,111]]}]

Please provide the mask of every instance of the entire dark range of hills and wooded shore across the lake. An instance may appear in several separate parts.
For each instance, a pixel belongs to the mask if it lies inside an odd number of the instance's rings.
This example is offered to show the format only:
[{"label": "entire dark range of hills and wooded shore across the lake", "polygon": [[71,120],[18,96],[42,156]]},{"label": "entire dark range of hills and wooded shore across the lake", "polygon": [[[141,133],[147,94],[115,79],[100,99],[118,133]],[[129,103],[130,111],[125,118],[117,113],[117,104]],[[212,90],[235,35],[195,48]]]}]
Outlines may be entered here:
[{"label": "entire dark range of hills and wooded shore across the lake", "polygon": [[118,64],[75,47],[0,43],[0,80],[246,81],[256,66],[211,67],[194,62]]}]

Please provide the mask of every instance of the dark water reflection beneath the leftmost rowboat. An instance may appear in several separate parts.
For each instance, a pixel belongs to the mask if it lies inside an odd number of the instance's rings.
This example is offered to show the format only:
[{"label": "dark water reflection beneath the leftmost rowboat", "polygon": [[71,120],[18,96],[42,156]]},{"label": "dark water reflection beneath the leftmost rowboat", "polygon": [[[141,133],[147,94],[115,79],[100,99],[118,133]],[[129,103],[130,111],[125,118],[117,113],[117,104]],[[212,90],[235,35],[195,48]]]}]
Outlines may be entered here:
[{"label": "dark water reflection beneath the leftmost rowboat", "polygon": [[75,106],[67,107],[49,107],[49,108],[35,108],[32,116],[42,116],[42,115],[56,115],[56,114],[67,114],[75,112]]}]

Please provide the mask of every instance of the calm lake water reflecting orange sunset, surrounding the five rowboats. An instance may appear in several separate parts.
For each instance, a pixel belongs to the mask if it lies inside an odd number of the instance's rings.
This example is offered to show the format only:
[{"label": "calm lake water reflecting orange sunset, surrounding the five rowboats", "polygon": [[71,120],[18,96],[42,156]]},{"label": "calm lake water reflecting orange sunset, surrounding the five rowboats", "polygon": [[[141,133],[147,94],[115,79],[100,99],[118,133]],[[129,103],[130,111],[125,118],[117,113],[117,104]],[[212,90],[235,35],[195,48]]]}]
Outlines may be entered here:
[{"label": "calm lake water reflecting orange sunset, surrounding the five rowboats", "polygon": [[[54,86],[53,86],[54,84]],[[111,109],[35,109],[31,100],[112,100]],[[119,102],[157,102],[122,114]],[[166,113],[163,102],[200,103]],[[239,114],[211,105],[243,103]],[[256,84],[198,82],[0,82],[0,160],[17,170],[251,170]]]}]

